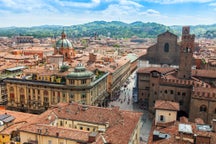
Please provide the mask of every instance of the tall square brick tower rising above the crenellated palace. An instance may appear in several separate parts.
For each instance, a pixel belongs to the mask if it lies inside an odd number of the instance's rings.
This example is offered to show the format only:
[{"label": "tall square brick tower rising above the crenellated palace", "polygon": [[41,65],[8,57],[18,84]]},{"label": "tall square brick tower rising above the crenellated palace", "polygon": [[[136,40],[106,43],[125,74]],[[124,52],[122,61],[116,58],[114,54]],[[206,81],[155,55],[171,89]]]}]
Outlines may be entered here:
[{"label": "tall square brick tower rising above the crenellated palace", "polygon": [[180,64],[178,71],[178,78],[190,79],[191,67],[193,62],[195,35],[190,34],[190,27],[182,28],[182,41],[180,47]]}]

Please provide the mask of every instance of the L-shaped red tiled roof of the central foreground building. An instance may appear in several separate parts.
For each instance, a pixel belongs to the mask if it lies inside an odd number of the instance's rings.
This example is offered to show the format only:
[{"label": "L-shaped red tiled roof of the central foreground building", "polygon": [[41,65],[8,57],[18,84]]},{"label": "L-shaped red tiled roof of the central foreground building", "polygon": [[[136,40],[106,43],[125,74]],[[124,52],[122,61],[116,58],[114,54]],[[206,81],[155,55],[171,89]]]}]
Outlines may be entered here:
[{"label": "L-shaped red tiled roof of the central foreground building", "polygon": [[[108,123],[109,126],[104,133],[106,141],[114,144],[124,144],[129,142],[141,115],[142,113],[139,112],[119,110],[118,107],[83,107],[78,104],[61,103],[57,107],[53,107],[42,113],[38,118],[35,118],[34,123],[49,125],[56,118],[100,125],[106,125]],[[48,116],[50,116],[49,119]],[[31,131],[28,127],[22,130]]]}]

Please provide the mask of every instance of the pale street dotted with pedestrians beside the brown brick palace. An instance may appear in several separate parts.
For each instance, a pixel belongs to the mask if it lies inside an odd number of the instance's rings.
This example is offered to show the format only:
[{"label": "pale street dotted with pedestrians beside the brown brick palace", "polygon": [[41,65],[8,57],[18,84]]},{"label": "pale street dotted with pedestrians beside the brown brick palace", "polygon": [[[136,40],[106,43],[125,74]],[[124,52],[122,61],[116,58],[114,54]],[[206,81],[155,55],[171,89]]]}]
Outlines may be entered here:
[{"label": "pale street dotted with pedestrians beside the brown brick palace", "polygon": [[131,74],[128,78],[127,82],[120,89],[120,95],[118,99],[109,103],[109,107],[119,106],[122,110],[131,110],[131,111],[139,111],[143,112],[141,130],[140,130],[140,140],[143,142],[147,142],[148,135],[151,129],[152,120],[148,118],[148,112],[141,109],[139,105],[133,102],[132,92],[135,82],[135,73]]}]

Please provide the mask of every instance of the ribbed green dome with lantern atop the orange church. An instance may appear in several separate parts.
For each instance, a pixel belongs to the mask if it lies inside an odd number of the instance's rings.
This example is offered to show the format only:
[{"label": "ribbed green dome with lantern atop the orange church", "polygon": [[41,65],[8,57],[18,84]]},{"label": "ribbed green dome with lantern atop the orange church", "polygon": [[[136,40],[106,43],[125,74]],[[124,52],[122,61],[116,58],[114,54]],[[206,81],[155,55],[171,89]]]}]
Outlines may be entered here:
[{"label": "ribbed green dome with lantern atop the orange church", "polygon": [[61,39],[59,39],[56,42],[55,47],[57,49],[60,49],[60,48],[69,48],[69,49],[72,49],[73,48],[72,44],[71,44],[71,42],[68,39],[66,39],[66,34],[65,34],[64,31],[62,32],[61,36],[62,36]]}]

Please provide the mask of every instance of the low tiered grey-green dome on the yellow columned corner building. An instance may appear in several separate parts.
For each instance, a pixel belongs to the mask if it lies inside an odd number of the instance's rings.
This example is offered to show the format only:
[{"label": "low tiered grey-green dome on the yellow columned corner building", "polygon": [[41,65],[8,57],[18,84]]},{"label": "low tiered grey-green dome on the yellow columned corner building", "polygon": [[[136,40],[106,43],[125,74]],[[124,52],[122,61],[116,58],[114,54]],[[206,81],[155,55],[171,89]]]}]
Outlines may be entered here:
[{"label": "low tiered grey-green dome on the yellow columned corner building", "polygon": [[74,71],[67,75],[67,78],[70,79],[86,79],[94,76],[94,73],[85,69],[81,64],[78,64]]}]

